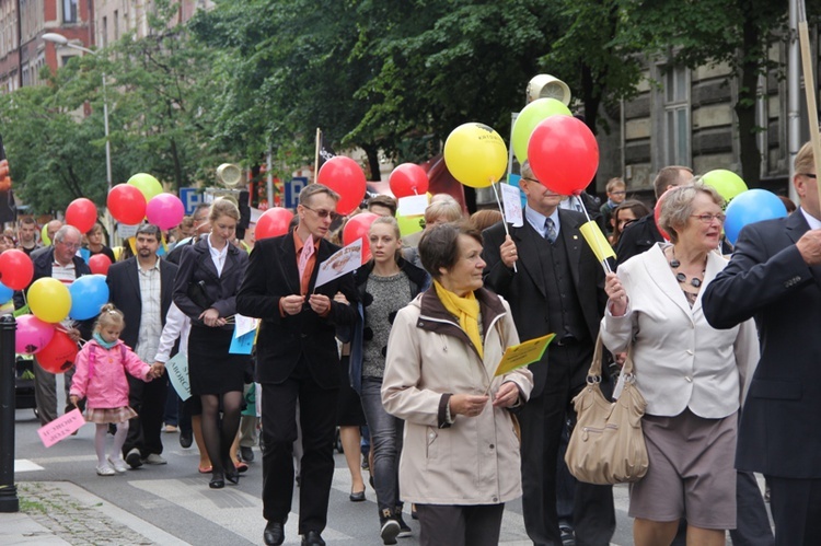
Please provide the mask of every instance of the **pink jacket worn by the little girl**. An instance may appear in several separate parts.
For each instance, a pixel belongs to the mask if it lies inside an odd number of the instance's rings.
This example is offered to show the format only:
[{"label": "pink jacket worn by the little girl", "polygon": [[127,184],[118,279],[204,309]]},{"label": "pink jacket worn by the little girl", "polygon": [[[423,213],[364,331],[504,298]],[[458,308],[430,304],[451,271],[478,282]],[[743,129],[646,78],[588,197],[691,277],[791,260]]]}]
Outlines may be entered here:
[{"label": "pink jacket worn by the little girl", "polygon": [[139,359],[123,341],[105,349],[95,340],[85,344],[74,359],[71,395],[86,398],[94,409],[113,409],[128,406],[126,371],[144,382],[151,367]]}]

